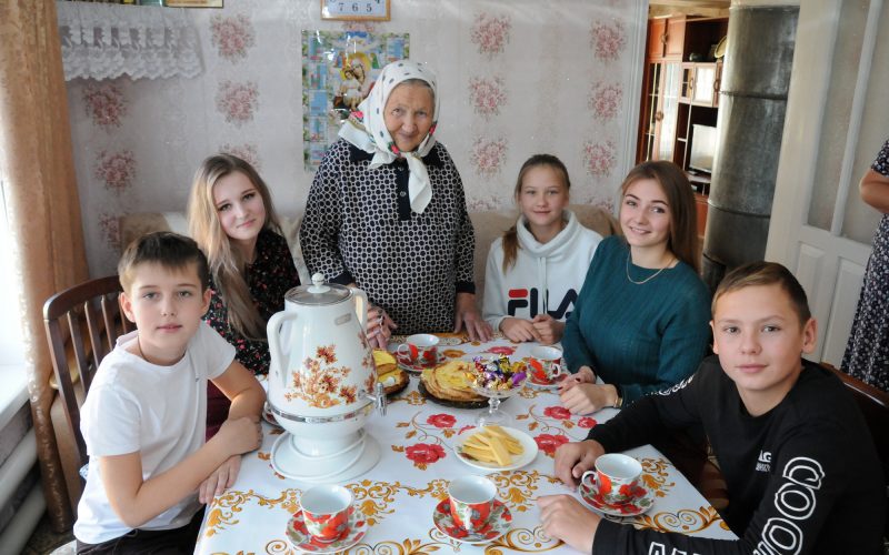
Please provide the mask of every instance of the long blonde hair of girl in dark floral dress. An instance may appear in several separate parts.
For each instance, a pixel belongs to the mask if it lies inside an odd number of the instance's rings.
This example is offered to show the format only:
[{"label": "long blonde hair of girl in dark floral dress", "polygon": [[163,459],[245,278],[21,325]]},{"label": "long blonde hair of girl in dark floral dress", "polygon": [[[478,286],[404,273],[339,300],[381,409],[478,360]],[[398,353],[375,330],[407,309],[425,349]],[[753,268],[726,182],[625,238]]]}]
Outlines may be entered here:
[{"label": "long blonde hair of girl in dark floral dress", "polygon": [[213,186],[220,179],[233,172],[246,175],[259,191],[266,206],[262,229],[281,234],[281,225],[266,182],[252,165],[231,154],[208,158],[194,173],[188,201],[189,233],[207,254],[210,274],[228,307],[229,325],[244,337],[264,339],[266,322],[257,310],[244,279],[247,261],[239,249],[232,248],[231,240],[222,230],[213,200]]}]

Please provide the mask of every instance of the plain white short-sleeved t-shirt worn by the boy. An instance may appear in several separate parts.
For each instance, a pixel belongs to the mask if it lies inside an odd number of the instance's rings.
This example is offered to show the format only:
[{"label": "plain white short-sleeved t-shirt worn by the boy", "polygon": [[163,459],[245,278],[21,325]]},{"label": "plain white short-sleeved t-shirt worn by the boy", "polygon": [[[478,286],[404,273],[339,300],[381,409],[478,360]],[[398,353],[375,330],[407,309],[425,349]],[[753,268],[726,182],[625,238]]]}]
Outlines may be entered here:
[{"label": "plain white short-sleeved t-shirt worn by the boy", "polygon": [[[100,544],[132,528],[111,508],[98,457],[139,452],[142,480],[179,464],[204,443],[207,381],[234,360],[231,346],[201,322],[186,355],[172,366],[158,366],[126,351],[138,331],[118,339],[102,360],[80,413],[80,431],[90,455],[87,486],[78,505],[74,536]],[[140,529],[184,526],[200,508],[197,493],[147,522]]]}]

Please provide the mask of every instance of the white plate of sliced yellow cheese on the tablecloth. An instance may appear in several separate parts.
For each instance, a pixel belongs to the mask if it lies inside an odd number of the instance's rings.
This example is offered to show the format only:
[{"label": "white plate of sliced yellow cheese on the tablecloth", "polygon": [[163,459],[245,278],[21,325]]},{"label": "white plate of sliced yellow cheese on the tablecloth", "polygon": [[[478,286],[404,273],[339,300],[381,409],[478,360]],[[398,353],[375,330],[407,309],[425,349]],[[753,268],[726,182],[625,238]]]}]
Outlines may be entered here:
[{"label": "white plate of sliced yellow cheese on the tablecloth", "polygon": [[537,457],[533,437],[513,427],[487,425],[467,432],[455,452],[470,466],[486,471],[515,471]]}]

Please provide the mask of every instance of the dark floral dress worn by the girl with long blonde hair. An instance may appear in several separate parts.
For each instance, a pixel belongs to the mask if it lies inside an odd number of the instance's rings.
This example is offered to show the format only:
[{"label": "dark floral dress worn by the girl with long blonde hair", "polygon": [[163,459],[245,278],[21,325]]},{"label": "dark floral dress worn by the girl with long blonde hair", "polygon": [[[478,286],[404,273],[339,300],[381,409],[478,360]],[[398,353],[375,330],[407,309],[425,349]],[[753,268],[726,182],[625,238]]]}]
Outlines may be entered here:
[{"label": "dark floral dress worn by the girl with long blonde hair", "polygon": [[[284,294],[299,285],[299,274],[287,241],[281,235],[263,230],[257,238],[257,256],[247,266],[247,285],[253,295],[262,320],[284,310]],[[217,332],[234,345],[234,359],[253,374],[269,373],[269,343],[264,334],[261,340],[247,339],[236,333],[229,324],[226,302],[210,280],[210,309],[203,316]],[[222,425],[229,411],[229,401],[212,384],[207,385],[207,438],[209,440]]]}]

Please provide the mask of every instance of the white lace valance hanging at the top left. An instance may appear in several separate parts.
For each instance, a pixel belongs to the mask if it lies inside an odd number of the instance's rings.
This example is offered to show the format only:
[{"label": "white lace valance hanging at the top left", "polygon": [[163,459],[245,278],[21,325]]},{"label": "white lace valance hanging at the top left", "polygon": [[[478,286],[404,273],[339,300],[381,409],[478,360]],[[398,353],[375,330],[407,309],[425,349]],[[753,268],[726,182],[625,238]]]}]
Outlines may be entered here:
[{"label": "white lace valance hanging at the top left", "polygon": [[194,77],[198,32],[182,9],[57,1],[64,79]]}]

